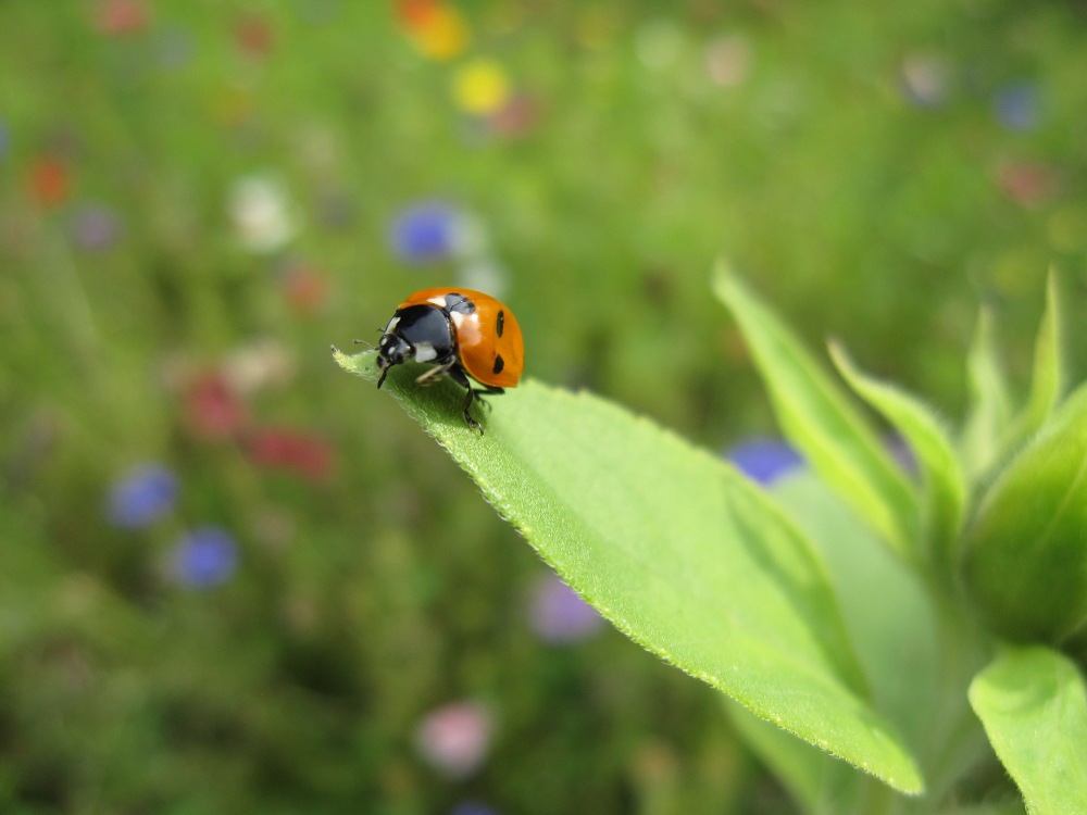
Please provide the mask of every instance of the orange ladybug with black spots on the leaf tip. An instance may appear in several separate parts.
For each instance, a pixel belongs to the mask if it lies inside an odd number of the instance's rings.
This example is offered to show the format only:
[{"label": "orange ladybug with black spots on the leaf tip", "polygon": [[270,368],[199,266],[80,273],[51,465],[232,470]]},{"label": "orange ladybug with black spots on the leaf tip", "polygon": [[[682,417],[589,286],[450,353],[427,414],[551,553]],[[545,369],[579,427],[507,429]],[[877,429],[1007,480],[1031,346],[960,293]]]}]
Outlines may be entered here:
[{"label": "orange ladybug with black spots on the leaf tip", "polygon": [[[472,289],[423,289],[397,308],[377,342],[380,388],[389,368],[404,362],[428,362],[415,381],[430,385],[442,374],[467,390],[464,422],[483,428],[470,408],[480,393],[502,393],[516,387],[525,363],[521,326],[513,312],[490,294]],[[483,386],[472,387],[472,379]]]}]

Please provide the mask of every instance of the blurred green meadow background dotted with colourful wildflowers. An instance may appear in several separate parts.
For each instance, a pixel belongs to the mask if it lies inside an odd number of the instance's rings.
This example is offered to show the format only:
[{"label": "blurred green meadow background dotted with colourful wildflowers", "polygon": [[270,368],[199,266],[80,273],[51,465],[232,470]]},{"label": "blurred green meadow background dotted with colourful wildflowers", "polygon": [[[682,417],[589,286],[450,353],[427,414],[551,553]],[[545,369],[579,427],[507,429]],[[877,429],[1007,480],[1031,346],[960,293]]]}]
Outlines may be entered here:
[{"label": "blurred green meadow background dotted with colourful wildflowers", "polygon": [[1085,181],[1071,0],[0,0],[0,810],[788,811],[328,346],[485,288],[723,451],[723,256],[958,422]]}]

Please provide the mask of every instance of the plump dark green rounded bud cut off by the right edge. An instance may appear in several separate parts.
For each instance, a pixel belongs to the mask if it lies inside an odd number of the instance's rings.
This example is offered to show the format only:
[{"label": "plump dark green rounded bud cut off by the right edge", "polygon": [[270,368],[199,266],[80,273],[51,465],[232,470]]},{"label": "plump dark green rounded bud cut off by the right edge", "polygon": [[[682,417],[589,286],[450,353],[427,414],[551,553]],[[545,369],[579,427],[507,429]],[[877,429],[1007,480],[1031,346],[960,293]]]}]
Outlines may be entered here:
[{"label": "plump dark green rounded bud cut off by the right edge", "polygon": [[964,555],[971,595],[1003,636],[1060,641],[1087,624],[1087,385],[1004,467]]}]

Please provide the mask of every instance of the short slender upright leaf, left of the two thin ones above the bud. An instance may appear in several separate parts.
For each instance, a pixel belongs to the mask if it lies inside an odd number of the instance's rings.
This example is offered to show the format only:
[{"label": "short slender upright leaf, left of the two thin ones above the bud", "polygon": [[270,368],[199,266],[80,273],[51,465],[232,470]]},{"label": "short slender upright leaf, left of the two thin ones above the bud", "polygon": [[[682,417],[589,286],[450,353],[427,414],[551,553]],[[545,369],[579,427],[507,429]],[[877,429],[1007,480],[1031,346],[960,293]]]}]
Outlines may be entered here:
[{"label": "short slender upright leaf, left of the two thin ones above the bud", "polygon": [[1001,439],[1011,416],[1008,385],[994,338],[992,312],[978,313],[974,340],[966,356],[971,410],[959,441],[971,480],[989,472],[1000,456]]}]

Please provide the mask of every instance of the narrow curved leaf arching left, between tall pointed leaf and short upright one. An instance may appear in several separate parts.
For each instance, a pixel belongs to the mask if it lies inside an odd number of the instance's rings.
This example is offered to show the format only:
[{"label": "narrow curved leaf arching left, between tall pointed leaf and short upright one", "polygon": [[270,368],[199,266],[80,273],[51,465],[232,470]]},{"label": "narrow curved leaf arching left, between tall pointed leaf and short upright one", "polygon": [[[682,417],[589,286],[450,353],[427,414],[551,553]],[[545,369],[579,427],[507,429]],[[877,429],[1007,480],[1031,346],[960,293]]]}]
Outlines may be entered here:
[{"label": "narrow curved leaf arching left, between tall pointed leaf and short upright one", "polygon": [[966,480],[950,436],[921,400],[894,385],[865,376],[837,343],[830,343],[830,356],[846,381],[887,417],[916,456],[925,481],[928,554],[935,565],[950,572],[966,502]]}]

